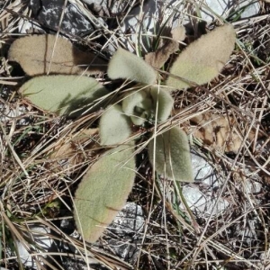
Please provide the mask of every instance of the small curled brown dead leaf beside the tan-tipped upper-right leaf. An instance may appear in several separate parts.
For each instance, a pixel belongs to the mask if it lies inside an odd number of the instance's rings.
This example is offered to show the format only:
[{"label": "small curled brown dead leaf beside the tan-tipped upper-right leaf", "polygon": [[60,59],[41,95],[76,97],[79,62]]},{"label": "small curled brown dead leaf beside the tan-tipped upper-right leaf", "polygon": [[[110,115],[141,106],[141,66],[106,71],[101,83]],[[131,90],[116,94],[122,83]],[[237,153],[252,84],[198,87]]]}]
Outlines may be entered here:
[{"label": "small curled brown dead leaf beside the tan-tipped upper-right leaf", "polygon": [[166,63],[172,53],[179,49],[179,41],[185,38],[184,26],[175,27],[171,31],[172,40],[166,40],[155,52],[149,52],[145,56],[145,61],[152,67],[161,68]]}]

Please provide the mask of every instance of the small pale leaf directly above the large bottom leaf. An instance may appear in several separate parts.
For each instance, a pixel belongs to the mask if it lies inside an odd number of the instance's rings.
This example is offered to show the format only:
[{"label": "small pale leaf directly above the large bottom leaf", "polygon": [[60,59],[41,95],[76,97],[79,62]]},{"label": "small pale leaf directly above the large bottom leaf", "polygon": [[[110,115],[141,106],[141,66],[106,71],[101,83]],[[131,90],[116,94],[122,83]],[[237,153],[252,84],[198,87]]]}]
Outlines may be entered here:
[{"label": "small pale leaf directly above the large bottom leaf", "polygon": [[103,112],[99,121],[101,145],[121,143],[129,138],[130,118],[121,110],[121,105],[114,104]]}]

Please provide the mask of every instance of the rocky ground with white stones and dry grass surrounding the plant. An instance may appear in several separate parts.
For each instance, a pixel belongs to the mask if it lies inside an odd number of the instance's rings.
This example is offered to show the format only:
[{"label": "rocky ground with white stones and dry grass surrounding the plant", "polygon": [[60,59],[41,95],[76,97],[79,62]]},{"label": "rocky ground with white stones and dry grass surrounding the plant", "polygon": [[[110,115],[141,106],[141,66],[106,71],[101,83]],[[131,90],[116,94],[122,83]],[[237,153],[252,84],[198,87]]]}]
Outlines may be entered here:
[{"label": "rocky ground with white stones and dry grass surrounding the plant", "polygon": [[[1,269],[268,269],[270,4],[266,2],[0,3]],[[204,88],[175,92],[175,112],[169,120],[179,121],[189,135],[195,182],[175,184],[152,175],[147,152],[141,151],[126,206],[102,238],[86,243],[76,231],[72,196],[94,157],[74,170],[62,166],[53,174],[46,161],[49,149],[72,136],[72,130],[85,122],[96,126],[94,113],[65,121],[24,102],[16,91],[29,76],[8,60],[10,45],[27,34],[59,34],[107,61],[118,47],[144,57],[157,49],[155,42],[167,30],[179,25],[186,29],[183,49],[222,23],[231,23],[237,33],[229,62]],[[172,61],[173,57],[164,70]],[[94,77],[111,90],[121,85],[112,84],[105,73]],[[198,113],[205,116],[200,123]],[[226,139],[220,143],[217,139],[227,134],[222,129],[232,132],[229,117],[236,120],[233,125],[241,138],[230,150],[224,147]],[[211,139],[194,135],[202,129],[210,130]]]}]

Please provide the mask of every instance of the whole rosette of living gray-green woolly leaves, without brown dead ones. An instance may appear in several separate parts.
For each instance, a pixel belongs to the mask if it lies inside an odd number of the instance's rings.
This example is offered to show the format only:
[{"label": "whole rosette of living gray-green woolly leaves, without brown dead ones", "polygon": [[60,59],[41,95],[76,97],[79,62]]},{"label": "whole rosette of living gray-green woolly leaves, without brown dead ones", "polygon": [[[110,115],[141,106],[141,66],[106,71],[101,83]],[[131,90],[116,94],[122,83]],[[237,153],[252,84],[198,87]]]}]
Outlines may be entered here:
[{"label": "whole rosette of living gray-green woolly leaves, without brown dead ones", "polygon": [[[206,83],[218,75],[234,42],[232,26],[222,26],[185,49],[171,73],[197,84]],[[99,123],[101,145],[123,143],[130,136],[131,124],[142,125],[156,112],[157,122],[164,122],[169,117],[174,100],[166,88],[153,85],[157,73],[141,58],[118,49],[109,63],[108,76],[136,81],[143,89],[121,96],[121,102],[118,100],[119,103],[105,109]],[[169,76],[166,85],[177,89],[189,86],[173,76]],[[92,103],[108,91],[93,78],[85,76],[40,76],[24,84],[21,93],[45,111],[64,114]],[[99,238],[126,202],[136,171],[132,147],[122,144],[106,152],[86,173],[76,190],[76,227],[89,242]],[[158,174],[176,181],[193,182],[188,139],[180,128],[174,127],[150,139],[148,156]]]}]

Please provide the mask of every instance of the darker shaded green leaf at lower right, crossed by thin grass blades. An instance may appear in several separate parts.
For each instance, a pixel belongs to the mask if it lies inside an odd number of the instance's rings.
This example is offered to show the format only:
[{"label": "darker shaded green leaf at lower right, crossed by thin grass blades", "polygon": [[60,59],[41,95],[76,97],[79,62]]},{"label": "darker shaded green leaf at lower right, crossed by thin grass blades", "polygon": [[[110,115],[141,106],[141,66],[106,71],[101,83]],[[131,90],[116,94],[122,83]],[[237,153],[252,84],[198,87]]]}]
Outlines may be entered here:
[{"label": "darker shaded green leaf at lower right, crossed by thin grass blades", "polygon": [[154,139],[148,144],[148,156],[153,165],[156,155],[157,173],[176,181],[193,182],[191,155],[184,131],[175,127],[157,135],[156,139],[156,149]]}]

